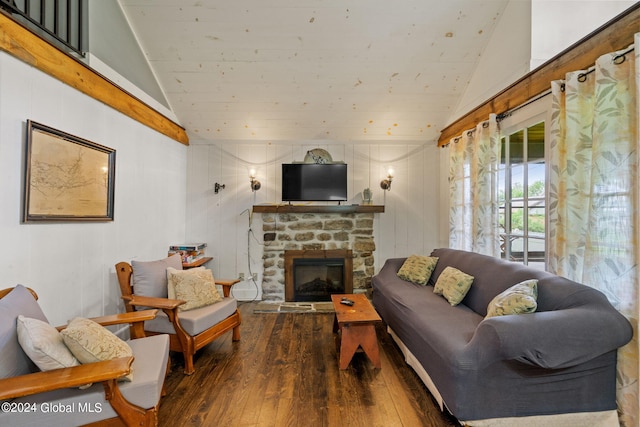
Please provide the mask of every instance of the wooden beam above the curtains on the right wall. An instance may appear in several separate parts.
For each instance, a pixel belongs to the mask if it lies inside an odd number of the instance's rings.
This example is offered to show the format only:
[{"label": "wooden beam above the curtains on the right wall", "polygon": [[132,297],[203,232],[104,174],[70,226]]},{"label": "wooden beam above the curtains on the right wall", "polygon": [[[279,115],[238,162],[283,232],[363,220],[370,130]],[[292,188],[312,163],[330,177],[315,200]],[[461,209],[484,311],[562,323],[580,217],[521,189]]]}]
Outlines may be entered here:
[{"label": "wooden beam above the curtains on the right wall", "polygon": [[633,44],[637,32],[640,32],[640,2],[445,127],[438,146],[447,145],[451,138],[487,120],[489,114],[504,113],[548,91],[551,81],[564,79],[568,72],[587,69],[600,56],[625,49]]}]

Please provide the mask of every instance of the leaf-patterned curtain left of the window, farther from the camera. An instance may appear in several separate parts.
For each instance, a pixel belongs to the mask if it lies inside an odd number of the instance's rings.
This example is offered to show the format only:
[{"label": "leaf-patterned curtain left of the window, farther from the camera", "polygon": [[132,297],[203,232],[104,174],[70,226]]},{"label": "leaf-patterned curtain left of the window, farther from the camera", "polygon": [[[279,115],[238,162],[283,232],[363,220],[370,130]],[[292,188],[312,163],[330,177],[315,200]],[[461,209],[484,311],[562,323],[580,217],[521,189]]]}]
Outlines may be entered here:
[{"label": "leaf-patterned curtain left of the window, farther from the camera", "polygon": [[449,144],[449,246],[500,256],[496,115]]}]

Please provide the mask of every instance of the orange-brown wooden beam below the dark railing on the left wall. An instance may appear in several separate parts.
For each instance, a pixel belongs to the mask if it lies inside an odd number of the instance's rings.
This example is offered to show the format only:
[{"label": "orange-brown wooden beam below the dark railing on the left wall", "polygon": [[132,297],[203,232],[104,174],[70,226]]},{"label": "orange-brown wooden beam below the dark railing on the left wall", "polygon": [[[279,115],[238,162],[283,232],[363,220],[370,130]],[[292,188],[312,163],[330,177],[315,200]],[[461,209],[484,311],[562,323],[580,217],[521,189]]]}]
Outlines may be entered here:
[{"label": "orange-brown wooden beam below the dark railing on the left wall", "polygon": [[163,135],[189,145],[189,137],[180,125],[32,33],[5,13],[0,13],[0,50]]}]

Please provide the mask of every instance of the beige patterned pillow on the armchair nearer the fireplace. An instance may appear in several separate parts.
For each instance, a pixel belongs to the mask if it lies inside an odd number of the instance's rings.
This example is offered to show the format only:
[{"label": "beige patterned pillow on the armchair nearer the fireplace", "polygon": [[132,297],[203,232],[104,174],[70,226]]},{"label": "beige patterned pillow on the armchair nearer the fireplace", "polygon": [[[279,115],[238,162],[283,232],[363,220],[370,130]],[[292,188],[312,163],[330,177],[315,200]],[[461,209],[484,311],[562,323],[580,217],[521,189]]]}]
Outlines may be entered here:
[{"label": "beige patterned pillow on the armchair nearer the fireplace", "polygon": [[168,293],[169,295],[173,293],[175,299],[186,301],[178,307],[178,310],[193,310],[222,301],[211,270],[204,268],[172,270],[167,269]]}]

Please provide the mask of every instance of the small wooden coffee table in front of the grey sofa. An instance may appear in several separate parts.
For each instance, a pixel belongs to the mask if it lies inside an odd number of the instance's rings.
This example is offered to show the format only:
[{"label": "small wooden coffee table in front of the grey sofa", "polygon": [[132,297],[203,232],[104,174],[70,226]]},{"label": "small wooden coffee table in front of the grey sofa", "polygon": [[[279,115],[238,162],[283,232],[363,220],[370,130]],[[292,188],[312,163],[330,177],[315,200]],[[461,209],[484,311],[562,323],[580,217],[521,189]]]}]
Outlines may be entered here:
[{"label": "small wooden coffee table in front of the grey sofa", "polygon": [[[353,306],[341,304],[342,298],[353,301]],[[382,319],[365,294],[333,294],[331,302],[336,312],[333,331],[341,335],[340,369],[347,369],[358,348],[362,348],[373,366],[380,369],[380,350],[375,324]]]}]

